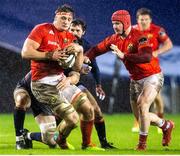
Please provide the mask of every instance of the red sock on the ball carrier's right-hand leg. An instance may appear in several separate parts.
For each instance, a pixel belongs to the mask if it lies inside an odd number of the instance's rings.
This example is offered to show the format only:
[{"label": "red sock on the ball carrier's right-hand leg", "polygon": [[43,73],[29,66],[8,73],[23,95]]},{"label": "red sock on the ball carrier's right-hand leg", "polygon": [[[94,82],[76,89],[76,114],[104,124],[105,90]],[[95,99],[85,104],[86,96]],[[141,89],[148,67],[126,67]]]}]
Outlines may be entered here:
[{"label": "red sock on the ball carrier's right-hand leg", "polygon": [[83,145],[89,145],[91,143],[91,134],[93,129],[94,120],[80,122]]}]

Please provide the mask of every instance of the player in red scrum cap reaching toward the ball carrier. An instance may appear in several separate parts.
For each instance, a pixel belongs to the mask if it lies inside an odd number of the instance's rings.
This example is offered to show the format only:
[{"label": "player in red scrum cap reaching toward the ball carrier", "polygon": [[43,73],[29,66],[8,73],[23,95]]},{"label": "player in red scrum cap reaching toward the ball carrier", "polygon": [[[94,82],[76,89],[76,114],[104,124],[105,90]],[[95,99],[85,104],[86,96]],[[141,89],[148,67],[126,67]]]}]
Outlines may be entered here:
[{"label": "player in red scrum cap reaching toward the ball carrier", "polygon": [[113,50],[113,53],[123,61],[131,78],[131,106],[135,117],[140,121],[139,143],[136,149],[146,149],[150,124],[161,127],[163,130],[162,144],[168,146],[174,127],[173,122],[161,119],[156,114],[149,112],[150,105],[163,85],[159,62],[152,55],[152,47],[148,38],[131,27],[128,11],[114,12],[111,20],[115,34],[88,50],[86,61],[88,58],[93,60],[96,56]]}]

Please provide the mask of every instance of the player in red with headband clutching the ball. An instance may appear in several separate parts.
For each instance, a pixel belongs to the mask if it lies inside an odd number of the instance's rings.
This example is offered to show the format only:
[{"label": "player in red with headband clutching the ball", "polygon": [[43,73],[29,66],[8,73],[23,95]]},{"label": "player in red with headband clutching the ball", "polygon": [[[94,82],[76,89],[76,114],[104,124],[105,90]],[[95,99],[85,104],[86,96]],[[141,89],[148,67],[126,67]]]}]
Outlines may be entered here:
[{"label": "player in red with headband clutching the ball", "polygon": [[[59,58],[67,59],[69,53],[76,55],[73,66],[77,73],[83,63],[83,48],[75,41],[76,38],[68,32],[74,16],[70,6],[60,6],[55,12],[53,23],[37,25],[25,40],[22,57],[31,59],[31,90],[35,98],[59,115],[63,121],[58,126],[59,134],[55,141],[62,149],[73,149],[66,138],[74,129],[81,116],[81,131],[83,149],[99,150],[91,145],[91,133],[94,122],[94,111],[85,94],[74,84],[74,80],[64,75],[64,69],[59,65]],[[72,105],[71,105],[72,104]],[[76,112],[76,110],[77,112]]]}]

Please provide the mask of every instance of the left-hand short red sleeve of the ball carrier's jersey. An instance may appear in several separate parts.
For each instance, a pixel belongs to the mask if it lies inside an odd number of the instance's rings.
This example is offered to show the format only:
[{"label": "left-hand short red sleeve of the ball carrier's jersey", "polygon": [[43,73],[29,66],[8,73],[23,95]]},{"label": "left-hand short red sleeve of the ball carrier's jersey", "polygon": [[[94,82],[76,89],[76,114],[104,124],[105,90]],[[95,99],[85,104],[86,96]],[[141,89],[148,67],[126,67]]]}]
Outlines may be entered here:
[{"label": "left-hand short red sleeve of the ball carrier's jersey", "polygon": [[30,32],[28,38],[39,43],[39,44],[41,44],[44,33],[45,33],[44,27],[42,25],[37,25]]}]

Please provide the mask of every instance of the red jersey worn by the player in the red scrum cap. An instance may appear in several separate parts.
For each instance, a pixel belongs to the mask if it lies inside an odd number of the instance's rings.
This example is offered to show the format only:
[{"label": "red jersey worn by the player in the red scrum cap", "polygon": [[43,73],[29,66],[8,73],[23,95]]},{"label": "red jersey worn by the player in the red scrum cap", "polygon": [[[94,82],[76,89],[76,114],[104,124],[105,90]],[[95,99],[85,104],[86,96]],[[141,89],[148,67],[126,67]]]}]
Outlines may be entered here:
[{"label": "red jersey worn by the player in the red scrum cap", "polygon": [[154,57],[148,63],[137,63],[127,59],[131,54],[136,55],[137,58],[137,56],[141,55],[140,53],[143,49],[150,47],[148,40],[143,38],[145,36],[140,31],[132,28],[125,39],[122,39],[120,35],[113,34],[88,50],[86,56],[92,60],[96,56],[111,51],[110,45],[115,44],[125,54],[125,59],[122,61],[129,71],[130,77],[134,80],[140,80],[161,71],[159,62]]}]

